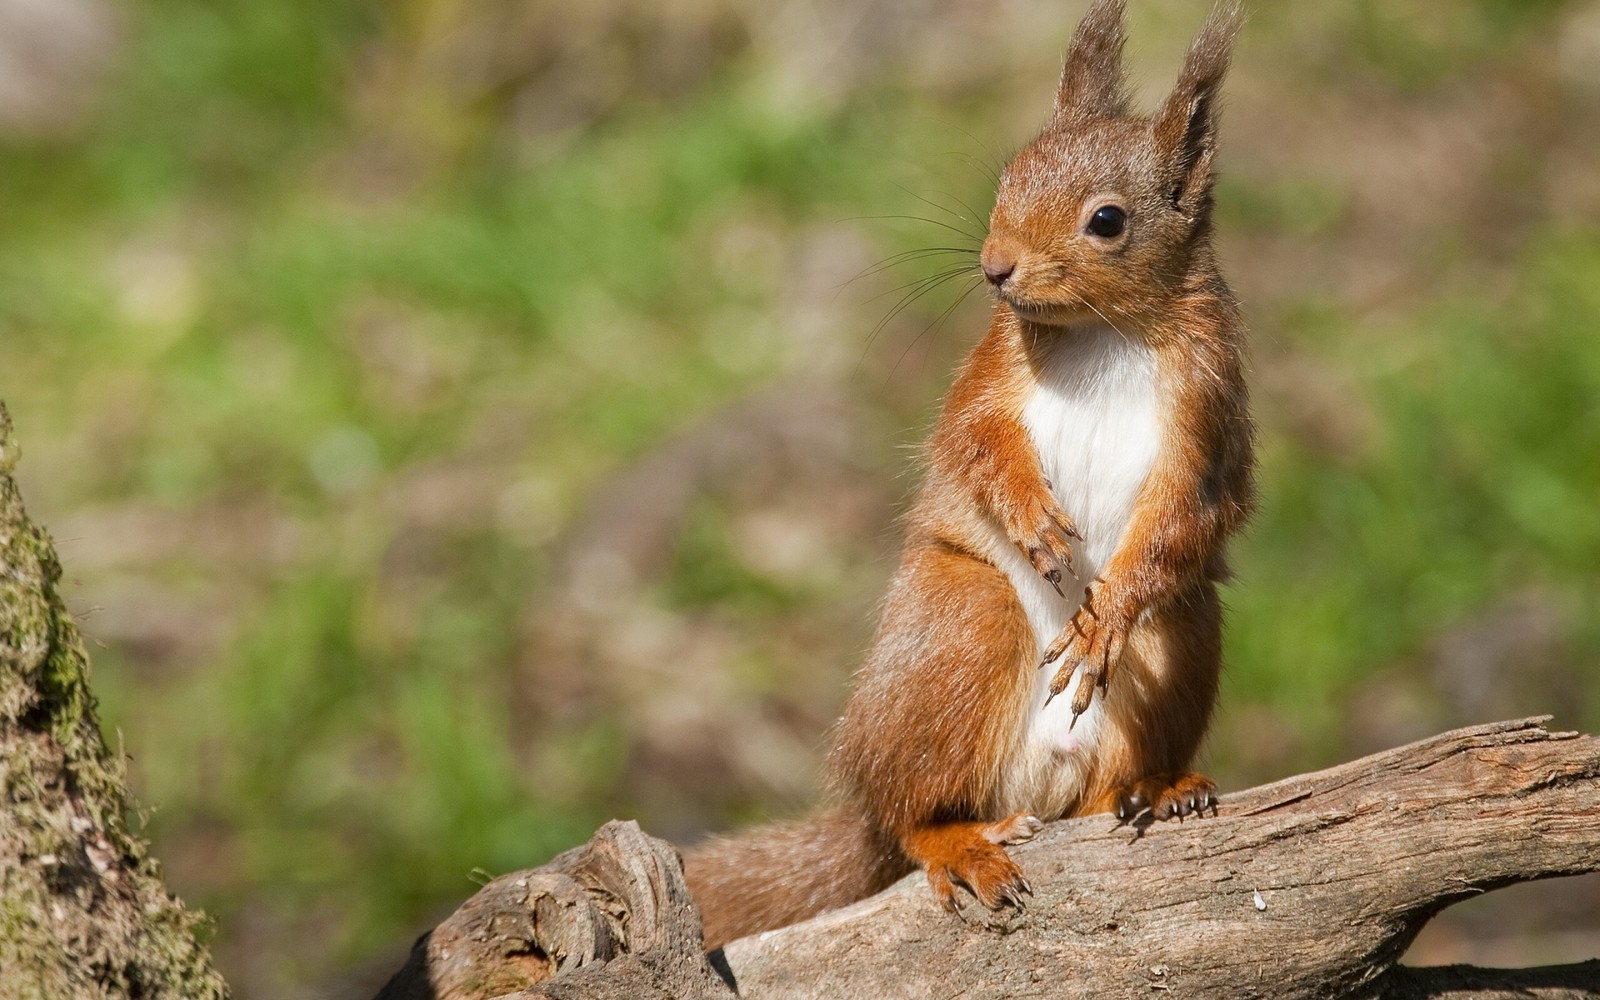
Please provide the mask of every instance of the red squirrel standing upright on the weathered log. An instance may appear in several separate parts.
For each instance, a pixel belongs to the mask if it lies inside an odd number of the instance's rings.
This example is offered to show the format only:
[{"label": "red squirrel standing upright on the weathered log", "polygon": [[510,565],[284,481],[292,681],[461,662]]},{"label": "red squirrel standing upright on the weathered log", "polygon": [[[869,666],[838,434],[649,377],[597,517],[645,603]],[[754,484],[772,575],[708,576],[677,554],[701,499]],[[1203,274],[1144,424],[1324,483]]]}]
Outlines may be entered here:
[{"label": "red squirrel standing upright on the weathered log", "polygon": [[[1042,821],[1200,813],[1224,546],[1253,507],[1243,325],[1211,246],[1224,0],[1154,115],[1123,0],[1072,37],[1054,114],[1005,168],[989,333],[926,453],[906,550],[829,755],[835,803],[685,858],[706,947],[922,869],[939,901],[1030,886]],[[1058,698],[1059,696],[1059,698]]]}]

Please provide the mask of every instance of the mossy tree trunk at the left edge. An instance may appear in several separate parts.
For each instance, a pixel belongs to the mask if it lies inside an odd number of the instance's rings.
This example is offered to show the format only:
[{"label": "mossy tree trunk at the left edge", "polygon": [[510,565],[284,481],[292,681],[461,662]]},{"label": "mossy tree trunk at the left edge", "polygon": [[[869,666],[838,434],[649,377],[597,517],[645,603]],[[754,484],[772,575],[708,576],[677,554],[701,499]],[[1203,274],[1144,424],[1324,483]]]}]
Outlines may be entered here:
[{"label": "mossy tree trunk at the left edge", "polygon": [[11,478],[0,405],[0,997],[208,1000],[227,995],[198,934],[128,827],[88,656],[56,590],[50,538]]}]

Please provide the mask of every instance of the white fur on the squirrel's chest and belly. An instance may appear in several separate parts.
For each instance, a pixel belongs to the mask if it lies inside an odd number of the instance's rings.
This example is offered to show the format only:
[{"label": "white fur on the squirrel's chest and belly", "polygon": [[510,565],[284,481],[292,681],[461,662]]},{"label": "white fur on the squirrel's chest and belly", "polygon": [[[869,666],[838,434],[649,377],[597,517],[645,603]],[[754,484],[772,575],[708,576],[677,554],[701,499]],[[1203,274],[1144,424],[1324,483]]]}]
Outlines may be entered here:
[{"label": "white fur on the squirrel's chest and belly", "polygon": [[[1043,651],[1078,610],[1085,584],[1122,542],[1139,488],[1155,464],[1165,429],[1155,355],[1106,326],[1061,331],[1038,387],[1022,406],[1022,426],[1056,499],[1083,534],[1074,546],[1075,579],[1061,584],[1067,595],[1062,600],[995,533],[995,563],[1011,578]],[[1077,798],[1093,763],[1104,699],[1096,698],[1070,725],[1070,698],[1045,707],[1053,672],[1038,670],[1034,682],[1027,733],[1006,781],[1008,810],[1059,814]]]}]

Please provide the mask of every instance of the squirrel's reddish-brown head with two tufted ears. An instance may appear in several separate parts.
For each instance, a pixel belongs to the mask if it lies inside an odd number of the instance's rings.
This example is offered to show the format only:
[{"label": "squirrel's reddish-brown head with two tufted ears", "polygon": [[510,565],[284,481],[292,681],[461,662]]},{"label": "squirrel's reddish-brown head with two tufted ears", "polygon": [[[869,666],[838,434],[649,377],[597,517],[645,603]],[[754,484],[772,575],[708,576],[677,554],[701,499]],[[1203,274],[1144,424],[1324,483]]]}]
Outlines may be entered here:
[{"label": "squirrel's reddish-brown head with two tufted ears", "polygon": [[1128,109],[1123,0],[1072,37],[1056,112],[1000,176],[984,277],[1021,318],[1138,317],[1178,293],[1211,230],[1218,91],[1242,11],[1222,0],[1154,115]]}]

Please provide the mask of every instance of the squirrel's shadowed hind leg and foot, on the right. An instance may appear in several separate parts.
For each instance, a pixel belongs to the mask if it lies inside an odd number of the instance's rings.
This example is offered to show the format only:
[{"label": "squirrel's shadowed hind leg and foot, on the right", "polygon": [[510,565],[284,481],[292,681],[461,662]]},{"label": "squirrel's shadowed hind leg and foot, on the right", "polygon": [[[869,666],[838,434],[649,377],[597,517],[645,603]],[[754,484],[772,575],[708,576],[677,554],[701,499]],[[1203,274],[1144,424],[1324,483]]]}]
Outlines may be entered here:
[{"label": "squirrel's shadowed hind leg and foot, on the right", "polygon": [[1106,730],[1080,813],[1136,821],[1182,818],[1216,805],[1216,786],[1189,770],[1216,701],[1222,608],[1216,584],[1192,586],[1128,634]]}]

